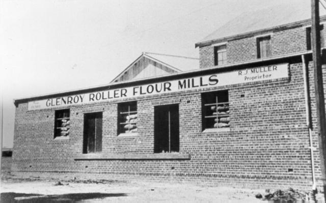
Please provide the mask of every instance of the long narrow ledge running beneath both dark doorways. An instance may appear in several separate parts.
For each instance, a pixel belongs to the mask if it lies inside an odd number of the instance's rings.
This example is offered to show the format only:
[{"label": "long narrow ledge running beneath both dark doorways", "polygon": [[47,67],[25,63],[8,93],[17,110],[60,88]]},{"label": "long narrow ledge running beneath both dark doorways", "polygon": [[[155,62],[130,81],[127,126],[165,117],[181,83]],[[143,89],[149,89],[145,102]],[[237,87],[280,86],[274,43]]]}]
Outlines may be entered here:
[{"label": "long narrow ledge running beneath both dark doorways", "polygon": [[74,160],[190,160],[190,154],[83,154]]}]

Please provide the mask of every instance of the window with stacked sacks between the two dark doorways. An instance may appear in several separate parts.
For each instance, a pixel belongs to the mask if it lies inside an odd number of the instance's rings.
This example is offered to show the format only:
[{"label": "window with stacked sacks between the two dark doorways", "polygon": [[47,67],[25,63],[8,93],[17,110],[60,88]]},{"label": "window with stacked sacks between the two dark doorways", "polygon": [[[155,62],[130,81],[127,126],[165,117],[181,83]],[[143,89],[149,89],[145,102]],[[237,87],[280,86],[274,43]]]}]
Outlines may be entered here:
[{"label": "window with stacked sacks between the two dark doorways", "polygon": [[118,104],[118,135],[137,132],[137,101]]}]

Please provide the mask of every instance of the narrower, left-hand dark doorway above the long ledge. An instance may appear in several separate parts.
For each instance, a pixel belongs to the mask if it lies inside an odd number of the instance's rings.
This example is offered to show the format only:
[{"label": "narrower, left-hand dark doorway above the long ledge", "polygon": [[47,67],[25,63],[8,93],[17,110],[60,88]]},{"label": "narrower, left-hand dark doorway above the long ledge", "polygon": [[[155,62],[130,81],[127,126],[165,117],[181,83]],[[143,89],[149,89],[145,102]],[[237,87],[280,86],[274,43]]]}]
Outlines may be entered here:
[{"label": "narrower, left-hand dark doorway above the long ledge", "polygon": [[102,151],[102,112],[84,115],[83,153],[99,153]]}]

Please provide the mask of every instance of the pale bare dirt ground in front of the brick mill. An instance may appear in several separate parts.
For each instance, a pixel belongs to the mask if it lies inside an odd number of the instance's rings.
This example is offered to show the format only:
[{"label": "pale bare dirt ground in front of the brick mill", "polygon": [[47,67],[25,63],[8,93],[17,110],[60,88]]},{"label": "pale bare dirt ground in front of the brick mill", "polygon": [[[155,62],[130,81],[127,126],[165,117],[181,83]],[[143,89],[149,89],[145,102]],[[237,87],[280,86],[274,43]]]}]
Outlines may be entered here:
[{"label": "pale bare dirt ground in front of the brick mill", "polygon": [[[4,178],[3,178],[4,179]],[[119,181],[4,179],[1,202],[266,202],[264,190]]]}]

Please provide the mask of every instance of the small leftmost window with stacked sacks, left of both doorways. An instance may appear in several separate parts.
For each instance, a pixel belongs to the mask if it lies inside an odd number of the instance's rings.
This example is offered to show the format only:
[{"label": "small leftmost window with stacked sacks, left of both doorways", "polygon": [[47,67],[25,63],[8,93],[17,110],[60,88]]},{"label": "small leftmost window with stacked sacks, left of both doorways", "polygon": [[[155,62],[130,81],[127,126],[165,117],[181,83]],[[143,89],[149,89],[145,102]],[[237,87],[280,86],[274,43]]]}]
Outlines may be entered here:
[{"label": "small leftmost window with stacked sacks, left of both doorways", "polygon": [[56,110],[55,112],[55,138],[68,136],[70,129],[70,109]]}]

